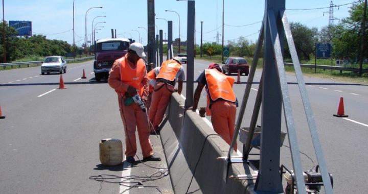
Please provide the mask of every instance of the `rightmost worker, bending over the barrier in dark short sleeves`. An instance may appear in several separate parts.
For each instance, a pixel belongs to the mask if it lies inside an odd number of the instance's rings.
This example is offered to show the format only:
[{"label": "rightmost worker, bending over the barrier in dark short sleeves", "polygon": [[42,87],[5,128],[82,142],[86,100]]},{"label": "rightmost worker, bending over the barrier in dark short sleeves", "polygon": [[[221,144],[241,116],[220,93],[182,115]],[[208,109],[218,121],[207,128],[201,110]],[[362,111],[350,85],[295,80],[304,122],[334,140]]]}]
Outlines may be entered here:
[{"label": "rightmost worker, bending over the barrier in dark short sleeves", "polygon": [[[200,95],[204,86],[207,94],[206,115],[211,115],[211,122],[215,132],[230,145],[235,130],[235,117],[238,101],[233,91],[235,78],[222,74],[220,65],[210,64],[199,75],[197,88],[194,92],[193,106],[188,110],[196,111]],[[237,151],[235,143],[234,150]]]}]

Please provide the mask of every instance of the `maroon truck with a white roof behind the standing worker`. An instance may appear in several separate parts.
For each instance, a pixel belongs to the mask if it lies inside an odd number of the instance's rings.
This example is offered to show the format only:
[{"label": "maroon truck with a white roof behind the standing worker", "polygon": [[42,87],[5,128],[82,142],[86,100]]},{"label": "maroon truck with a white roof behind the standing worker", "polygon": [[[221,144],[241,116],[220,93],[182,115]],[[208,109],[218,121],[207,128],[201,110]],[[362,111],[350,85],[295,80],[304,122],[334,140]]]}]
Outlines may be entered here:
[{"label": "maroon truck with a white roof behind the standing worker", "polygon": [[130,40],[126,38],[106,38],[96,41],[94,72],[96,81],[106,79],[115,60],[128,53]]}]

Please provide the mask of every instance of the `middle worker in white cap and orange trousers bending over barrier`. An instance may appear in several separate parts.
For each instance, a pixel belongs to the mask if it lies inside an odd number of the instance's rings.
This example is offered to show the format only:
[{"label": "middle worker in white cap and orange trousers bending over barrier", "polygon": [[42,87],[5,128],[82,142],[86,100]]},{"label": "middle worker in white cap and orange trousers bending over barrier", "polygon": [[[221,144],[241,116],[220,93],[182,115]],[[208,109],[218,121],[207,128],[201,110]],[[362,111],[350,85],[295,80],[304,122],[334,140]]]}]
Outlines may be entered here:
[{"label": "middle worker in white cap and orange trousers bending over barrier", "polygon": [[[158,125],[162,122],[166,108],[170,102],[171,93],[177,91],[181,94],[182,83],[185,80],[184,68],[181,66],[181,58],[164,61],[156,77],[153,87],[151,107],[148,117],[152,123],[151,132],[158,132]],[[175,88],[176,81],[178,88]]]}]

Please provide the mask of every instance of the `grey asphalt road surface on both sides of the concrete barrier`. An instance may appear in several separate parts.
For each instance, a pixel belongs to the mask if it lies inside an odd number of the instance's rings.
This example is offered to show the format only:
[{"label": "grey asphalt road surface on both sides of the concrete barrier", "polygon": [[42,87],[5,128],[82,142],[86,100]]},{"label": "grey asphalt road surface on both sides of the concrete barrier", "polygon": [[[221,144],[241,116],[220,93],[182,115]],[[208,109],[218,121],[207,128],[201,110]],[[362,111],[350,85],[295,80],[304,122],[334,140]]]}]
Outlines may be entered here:
[{"label": "grey asphalt road surface on both sides of the concrete barrier", "polygon": [[[194,78],[209,64],[195,60]],[[87,79],[80,79],[83,69]],[[241,127],[249,126],[260,75],[261,70],[257,70]],[[66,74],[62,76],[67,89],[57,89],[59,74],[41,76],[40,67],[0,71],[0,106],[6,116],[0,119],[1,193],[121,193],[128,187],[117,183],[100,184],[89,178],[103,174],[147,177],[166,171],[165,160],[139,162],[133,166],[126,162],[114,167],[101,165],[101,139],[119,138],[123,149],[125,145],[117,95],[106,81],[96,82],[91,61],[68,63]],[[237,75],[233,77],[237,79]],[[239,105],[248,77],[240,79],[242,84],[234,85]],[[307,171],[317,165],[317,160],[296,78],[288,75],[287,80],[297,141],[303,153],[303,170]],[[334,193],[365,193],[368,190],[368,86],[309,77],[305,77],[305,82],[328,171],[334,178]],[[182,94],[186,95],[186,83]],[[333,116],[340,97],[343,97],[347,118]],[[199,107],[204,106],[205,96],[201,95]],[[239,110],[240,107],[238,113]],[[261,113],[258,125],[260,122]],[[282,128],[287,132],[284,119]],[[154,154],[164,157],[159,138],[151,136],[150,139]],[[283,144],[281,164],[291,168],[287,138]],[[238,147],[242,152],[242,147]],[[142,159],[140,148],[138,152],[137,156]],[[252,152],[257,153],[257,150]],[[152,187],[133,188],[124,193],[159,193],[156,188],[172,193],[169,176],[143,184]]]}]

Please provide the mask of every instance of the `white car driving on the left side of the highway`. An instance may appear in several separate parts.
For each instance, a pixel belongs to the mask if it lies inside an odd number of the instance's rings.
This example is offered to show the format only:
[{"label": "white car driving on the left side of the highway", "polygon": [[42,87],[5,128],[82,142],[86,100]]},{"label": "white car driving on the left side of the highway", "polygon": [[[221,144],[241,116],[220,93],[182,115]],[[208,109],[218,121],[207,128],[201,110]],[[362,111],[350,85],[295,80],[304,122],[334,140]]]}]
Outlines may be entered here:
[{"label": "white car driving on the left side of the highway", "polygon": [[58,72],[59,74],[66,73],[66,61],[61,56],[46,57],[41,64],[41,74],[50,74],[51,72]]}]

